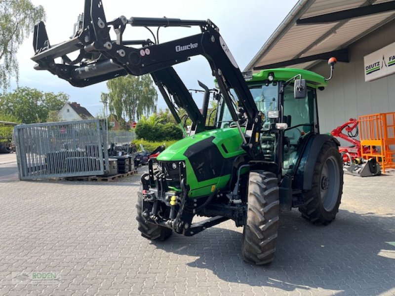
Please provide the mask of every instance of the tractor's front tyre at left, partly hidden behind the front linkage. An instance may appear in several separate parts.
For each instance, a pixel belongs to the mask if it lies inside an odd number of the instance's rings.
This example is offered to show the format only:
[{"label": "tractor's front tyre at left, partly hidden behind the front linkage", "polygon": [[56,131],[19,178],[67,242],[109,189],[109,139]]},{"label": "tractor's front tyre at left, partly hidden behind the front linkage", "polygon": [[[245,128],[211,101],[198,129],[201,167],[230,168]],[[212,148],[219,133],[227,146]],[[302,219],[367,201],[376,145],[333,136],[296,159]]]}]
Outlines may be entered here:
[{"label": "tractor's front tyre at left, partly hidden behind the front linkage", "polygon": [[[143,190],[140,188],[141,191]],[[144,217],[143,217],[143,195],[142,193],[137,194],[137,204],[136,204],[136,209],[137,209],[137,216],[136,220],[138,222],[138,229],[141,232],[141,236],[145,237],[146,239],[149,240],[157,240],[157,241],[164,241],[168,239],[171,234],[173,233],[173,230],[167,227],[160,226],[155,223],[148,222]]]}]

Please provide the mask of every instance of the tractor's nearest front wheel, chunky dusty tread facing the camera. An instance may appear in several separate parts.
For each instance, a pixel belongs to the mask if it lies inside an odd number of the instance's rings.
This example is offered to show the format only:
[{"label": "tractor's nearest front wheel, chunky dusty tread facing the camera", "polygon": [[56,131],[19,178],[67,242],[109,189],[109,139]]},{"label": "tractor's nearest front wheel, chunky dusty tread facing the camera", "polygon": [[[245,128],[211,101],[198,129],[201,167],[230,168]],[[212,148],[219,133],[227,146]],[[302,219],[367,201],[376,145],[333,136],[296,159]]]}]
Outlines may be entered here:
[{"label": "tractor's nearest front wheel, chunky dusty tread facing the camera", "polygon": [[267,264],[273,261],[276,251],[279,211],[276,175],[263,171],[250,172],[247,197],[243,259],[253,264]]}]

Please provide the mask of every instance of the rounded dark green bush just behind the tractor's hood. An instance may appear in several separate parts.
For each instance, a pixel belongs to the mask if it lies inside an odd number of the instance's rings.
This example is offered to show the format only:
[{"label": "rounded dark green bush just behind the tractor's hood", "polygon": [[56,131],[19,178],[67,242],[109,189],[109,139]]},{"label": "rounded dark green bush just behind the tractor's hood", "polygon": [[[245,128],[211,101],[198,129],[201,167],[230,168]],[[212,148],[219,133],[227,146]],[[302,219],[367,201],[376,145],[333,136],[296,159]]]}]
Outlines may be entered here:
[{"label": "rounded dark green bush just behind the tractor's hood", "polygon": [[167,141],[167,140],[180,140],[182,139],[181,129],[173,124],[150,124],[150,123],[138,123],[135,129],[136,136],[138,139],[144,139],[147,141]]}]

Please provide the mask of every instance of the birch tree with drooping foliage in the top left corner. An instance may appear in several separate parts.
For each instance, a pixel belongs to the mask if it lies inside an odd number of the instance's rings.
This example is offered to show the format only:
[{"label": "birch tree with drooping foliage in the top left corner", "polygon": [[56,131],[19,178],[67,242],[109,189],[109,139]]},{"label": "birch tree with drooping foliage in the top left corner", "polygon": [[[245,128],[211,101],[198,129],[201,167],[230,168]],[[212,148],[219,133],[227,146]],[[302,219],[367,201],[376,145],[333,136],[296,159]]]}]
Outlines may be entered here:
[{"label": "birch tree with drooping foliage in the top left corner", "polygon": [[18,81],[19,45],[44,18],[44,8],[30,0],[0,0],[0,88],[6,89],[11,77]]}]

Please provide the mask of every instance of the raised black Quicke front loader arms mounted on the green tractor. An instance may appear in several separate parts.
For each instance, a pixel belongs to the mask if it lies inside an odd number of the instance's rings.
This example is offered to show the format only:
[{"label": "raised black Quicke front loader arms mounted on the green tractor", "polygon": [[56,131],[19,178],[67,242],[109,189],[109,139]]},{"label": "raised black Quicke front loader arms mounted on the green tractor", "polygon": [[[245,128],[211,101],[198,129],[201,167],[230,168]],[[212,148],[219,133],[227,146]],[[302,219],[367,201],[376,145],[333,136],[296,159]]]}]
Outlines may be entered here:
[{"label": "raised black Quicke front loader arms mounted on the green tractor", "polygon": [[[160,44],[155,44],[151,40],[124,41],[122,34],[128,24],[134,27],[199,26],[201,33]],[[111,40],[110,26],[114,28],[117,40]],[[112,22],[107,22],[102,1],[85,0],[84,13],[79,17],[75,31],[74,37],[70,40],[50,46],[44,24],[40,22],[36,25],[33,41],[35,55],[32,57],[38,64],[35,69],[48,70],[78,87],[126,74],[152,74],[157,84],[167,88],[176,104],[179,103],[186,109],[198,130],[204,127],[203,116],[198,112],[184,83],[171,67],[188,61],[191,56],[202,55],[207,59],[237,125],[238,117],[229,96],[230,88],[235,90],[239,103],[244,108],[248,119],[245,135],[238,125],[244,139],[243,148],[252,158],[257,158],[261,153],[258,140],[261,114],[235,59],[219,34],[218,27],[210,20],[137,17],[127,19],[120,16]],[[137,43],[143,46],[126,46]],[[67,54],[74,51],[79,51],[79,56],[75,61],[71,61]],[[62,63],[55,63],[56,58],[62,58]],[[174,107],[169,108],[173,113]]]}]

